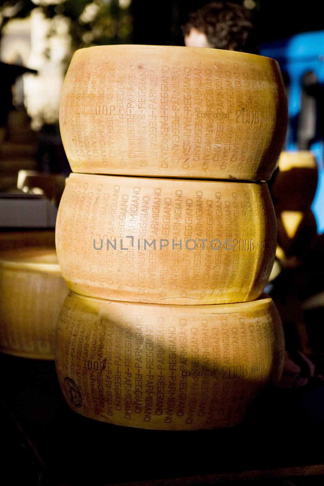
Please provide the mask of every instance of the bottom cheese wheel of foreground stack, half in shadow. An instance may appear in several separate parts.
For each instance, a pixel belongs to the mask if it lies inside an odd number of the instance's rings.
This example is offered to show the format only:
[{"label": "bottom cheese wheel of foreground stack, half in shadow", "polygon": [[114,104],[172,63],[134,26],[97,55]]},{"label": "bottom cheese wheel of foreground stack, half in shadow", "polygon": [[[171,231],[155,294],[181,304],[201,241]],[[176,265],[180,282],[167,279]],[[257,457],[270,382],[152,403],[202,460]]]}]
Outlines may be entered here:
[{"label": "bottom cheese wheel of foreground stack, half in shadow", "polygon": [[55,361],[76,412],[116,425],[197,430],[238,424],[282,373],[284,338],[268,296],[176,306],[67,296]]}]

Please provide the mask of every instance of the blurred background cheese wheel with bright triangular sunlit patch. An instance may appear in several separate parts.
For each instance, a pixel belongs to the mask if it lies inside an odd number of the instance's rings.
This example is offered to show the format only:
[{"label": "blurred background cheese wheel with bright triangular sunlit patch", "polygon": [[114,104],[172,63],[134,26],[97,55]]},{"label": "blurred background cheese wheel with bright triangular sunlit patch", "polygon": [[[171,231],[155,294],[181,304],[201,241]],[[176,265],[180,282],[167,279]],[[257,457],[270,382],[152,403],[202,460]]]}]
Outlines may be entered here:
[{"label": "blurred background cheese wheel with bright triangular sunlit patch", "polygon": [[[313,212],[282,211],[277,216],[278,244],[283,250],[281,260],[302,258],[317,239],[316,219]],[[277,256],[280,254],[277,252]]]}]

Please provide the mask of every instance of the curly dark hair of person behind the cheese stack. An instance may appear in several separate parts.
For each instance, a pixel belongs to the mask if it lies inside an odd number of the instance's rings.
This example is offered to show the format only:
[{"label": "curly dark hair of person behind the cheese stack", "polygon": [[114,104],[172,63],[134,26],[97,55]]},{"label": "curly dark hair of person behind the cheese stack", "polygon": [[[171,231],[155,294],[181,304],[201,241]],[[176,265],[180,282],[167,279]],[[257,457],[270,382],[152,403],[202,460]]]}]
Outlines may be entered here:
[{"label": "curly dark hair of person behind the cheese stack", "polygon": [[189,14],[188,22],[181,27],[183,35],[189,35],[191,28],[205,34],[214,49],[257,53],[250,12],[238,3],[208,3]]}]

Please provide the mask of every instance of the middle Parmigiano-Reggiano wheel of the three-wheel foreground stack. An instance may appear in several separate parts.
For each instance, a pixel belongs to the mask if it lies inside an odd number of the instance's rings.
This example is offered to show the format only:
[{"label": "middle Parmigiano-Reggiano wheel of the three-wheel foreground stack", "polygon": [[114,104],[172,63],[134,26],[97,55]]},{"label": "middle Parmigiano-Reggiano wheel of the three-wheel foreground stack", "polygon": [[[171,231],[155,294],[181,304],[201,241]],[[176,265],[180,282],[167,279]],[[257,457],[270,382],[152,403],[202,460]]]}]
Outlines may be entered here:
[{"label": "middle Parmigiano-Reggiano wheel of the three-wheel foreground stack", "polygon": [[67,285],[161,304],[256,299],[274,260],[266,183],[71,174],[56,221]]}]

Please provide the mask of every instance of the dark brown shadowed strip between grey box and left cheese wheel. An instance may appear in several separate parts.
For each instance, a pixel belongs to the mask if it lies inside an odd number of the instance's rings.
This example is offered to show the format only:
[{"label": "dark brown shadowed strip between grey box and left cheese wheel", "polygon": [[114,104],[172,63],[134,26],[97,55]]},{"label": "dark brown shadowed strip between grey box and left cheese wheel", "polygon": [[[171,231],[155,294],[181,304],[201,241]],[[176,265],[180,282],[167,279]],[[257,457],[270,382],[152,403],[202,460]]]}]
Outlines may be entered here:
[{"label": "dark brown shadowed strip between grey box and left cheese wheel", "polygon": [[30,246],[47,246],[55,248],[54,229],[26,229],[0,231],[0,251],[26,248]]}]

